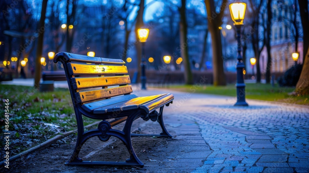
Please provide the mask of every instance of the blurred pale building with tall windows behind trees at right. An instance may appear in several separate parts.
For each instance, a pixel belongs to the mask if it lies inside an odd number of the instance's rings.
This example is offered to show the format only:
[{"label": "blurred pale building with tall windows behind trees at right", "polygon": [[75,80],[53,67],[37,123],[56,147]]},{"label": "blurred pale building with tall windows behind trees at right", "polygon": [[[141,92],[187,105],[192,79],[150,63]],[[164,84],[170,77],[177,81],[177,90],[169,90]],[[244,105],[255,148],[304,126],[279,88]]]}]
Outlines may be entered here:
[{"label": "blurred pale building with tall windows behind trees at right", "polygon": [[[296,1],[297,2],[297,1]],[[292,53],[298,52],[297,63],[303,63],[303,38],[302,25],[298,4],[294,0],[278,0],[273,2],[272,34],[271,34],[271,72],[285,72],[295,64]],[[296,9],[296,13],[295,13]],[[267,14],[265,14],[265,18]],[[295,17],[296,15],[296,17]],[[295,27],[299,33],[298,49],[295,50]],[[267,49],[263,49],[260,55],[261,72],[265,73],[267,68]]]}]

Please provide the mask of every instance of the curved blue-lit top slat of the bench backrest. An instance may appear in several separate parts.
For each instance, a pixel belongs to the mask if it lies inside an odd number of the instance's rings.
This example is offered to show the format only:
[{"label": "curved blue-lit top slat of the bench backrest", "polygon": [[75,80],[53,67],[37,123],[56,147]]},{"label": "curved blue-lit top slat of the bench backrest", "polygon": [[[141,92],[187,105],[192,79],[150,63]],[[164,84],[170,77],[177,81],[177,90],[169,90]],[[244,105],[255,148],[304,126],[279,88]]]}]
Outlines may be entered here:
[{"label": "curved blue-lit top slat of the bench backrest", "polygon": [[121,59],[109,59],[109,58],[100,58],[100,57],[88,57],[86,55],[77,55],[73,53],[59,52],[54,57],[54,62],[58,61],[65,62],[85,62],[85,63],[94,63],[94,64],[125,64]]}]

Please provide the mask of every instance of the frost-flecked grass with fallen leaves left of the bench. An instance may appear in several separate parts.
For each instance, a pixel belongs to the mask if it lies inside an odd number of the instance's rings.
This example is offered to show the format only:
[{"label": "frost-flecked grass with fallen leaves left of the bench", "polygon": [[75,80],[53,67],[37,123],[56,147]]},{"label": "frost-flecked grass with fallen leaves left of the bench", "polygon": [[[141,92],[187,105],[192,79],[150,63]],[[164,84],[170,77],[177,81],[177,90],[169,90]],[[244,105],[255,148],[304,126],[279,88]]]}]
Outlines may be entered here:
[{"label": "frost-flecked grass with fallen leaves left of the bench", "polygon": [[[73,103],[68,89],[56,88],[53,92],[39,92],[34,87],[0,85],[0,98],[9,99],[10,124],[9,132],[12,152],[22,152],[48,139],[77,129]],[[0,102],[0,137],[6,133],[4,127],[4,101]],[[91,124],[96,120],[84,118],[84,124]],[[55,124],[60,127],[52,128],[44,123]],[[2,135],[2,136],[1,136]],[[3,146],[3,140],[0,141]]]}]

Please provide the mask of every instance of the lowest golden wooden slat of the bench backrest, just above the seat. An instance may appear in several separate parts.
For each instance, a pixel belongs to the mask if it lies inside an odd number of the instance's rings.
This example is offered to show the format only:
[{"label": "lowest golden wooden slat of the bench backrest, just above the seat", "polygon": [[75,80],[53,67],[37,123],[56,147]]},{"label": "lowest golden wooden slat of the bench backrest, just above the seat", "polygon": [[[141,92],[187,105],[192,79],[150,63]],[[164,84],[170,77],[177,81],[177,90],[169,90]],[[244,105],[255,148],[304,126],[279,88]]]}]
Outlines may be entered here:
[{"label": "lowest golden wooden slat of the bench backrest, just above the seat", "polygon": [[100,89],[100,90],[77,92],[76,94],[80,97],[81,103],[84,103],[84,102],[88,102],[92,100],[109,98],[109,97],[113,97],[116,95],[129,94],[131,92],[132,92],[131,85],[127,85],[127,86],[119,86],[115,88],[106,88],[106,89]]}]

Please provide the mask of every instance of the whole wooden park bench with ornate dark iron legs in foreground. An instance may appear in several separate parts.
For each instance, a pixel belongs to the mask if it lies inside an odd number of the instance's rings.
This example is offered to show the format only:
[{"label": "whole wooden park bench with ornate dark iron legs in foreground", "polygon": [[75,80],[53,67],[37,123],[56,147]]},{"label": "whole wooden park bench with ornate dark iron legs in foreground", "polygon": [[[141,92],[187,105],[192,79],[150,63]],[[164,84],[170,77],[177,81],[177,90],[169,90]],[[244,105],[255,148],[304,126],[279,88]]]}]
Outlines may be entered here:
[{"label": "whole wooden park bench with ornate dark iron legs in foreground", "polygon": [[[57,53],[53,61],[63,64],[78,127],[76,146],[66,165],[143,167],[144,164],[133,150],[131,136],[171,137],[163,124],[162,112],[164,105],[172,103],[174,96],[160,94],[138,97],[130,94],[132,87],[129,85],[130,77],[126,75],[128,71],[124,61],[64,52]],[[97,129],[84,132],[82,115],[102,121]],[[162,133],[131,134],[132,123],[138,118],[158,121]],[[122,122],[125,122],[122,131],[112,129]],[[78,157],[81,147],[95,136],[101,141],[108,141],[111,136],[119,138],[127,147],[130,158],[125,162],[82,161]]]}]

